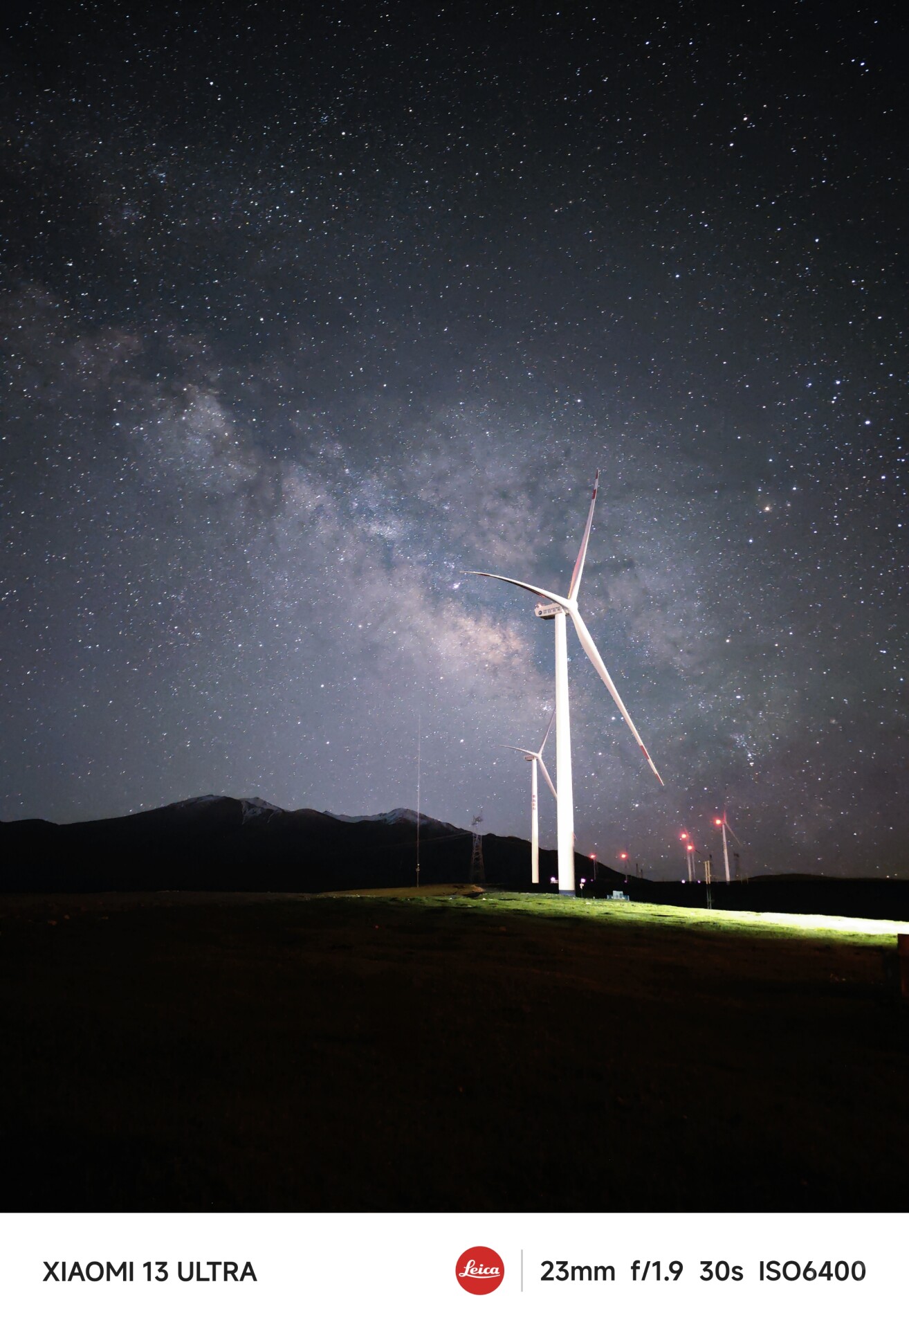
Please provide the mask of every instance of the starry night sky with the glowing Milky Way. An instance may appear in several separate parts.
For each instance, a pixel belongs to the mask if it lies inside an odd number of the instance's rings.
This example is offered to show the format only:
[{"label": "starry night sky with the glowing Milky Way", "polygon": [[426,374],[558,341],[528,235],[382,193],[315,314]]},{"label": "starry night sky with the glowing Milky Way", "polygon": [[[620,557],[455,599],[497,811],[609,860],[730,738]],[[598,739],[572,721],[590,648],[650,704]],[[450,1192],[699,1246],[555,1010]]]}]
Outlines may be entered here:
[{"label": "starry night sky with the glowing Milky Way", "polygon": [[[894,4],[15,7],[0,817],[199,793],[909,874]],[[550,754],[554,768],[554,752]],[[541,791],[542,840],[554,807]]]}]

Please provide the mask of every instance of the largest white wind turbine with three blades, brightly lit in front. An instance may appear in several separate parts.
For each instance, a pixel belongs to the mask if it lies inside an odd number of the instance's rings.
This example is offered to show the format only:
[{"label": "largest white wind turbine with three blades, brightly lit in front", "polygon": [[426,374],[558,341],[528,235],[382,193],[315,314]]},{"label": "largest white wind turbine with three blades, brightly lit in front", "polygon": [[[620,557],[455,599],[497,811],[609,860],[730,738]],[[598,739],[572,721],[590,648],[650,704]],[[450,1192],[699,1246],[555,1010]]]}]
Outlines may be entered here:
[{"label": "largest white wind turbine with three blades, brightly lit in front", "polygon": [[634,734],[635,742],[647,759],[650,769],[654,772],[659,783],[663,783],[659,771],[650,759],[647,748],[643,746],[641,735],[634,727],[631,716],[625,708],[622,698],[618,695],[615,684],[609,676],[609,670],[602,662],[599,651],[594,645],[594,639],[585,627],[583,619],[578,613],[578,591],[581,589],[581,577],[583,575],[583,562],[587,557],[587,542],[590,541],[590,528],[593,525],[593,510],[594,504],[597,502],[598,488],[599,472],[597,472],[594,478],[590,512],[587,513],[587,525],[583,528],[583,540],[581,541],[581,550],[574,565],[574,571],[571,573],[571,585],[569,586],[567,595],[557,595],[556,591],[544,590],[541,586],[532,586],[529,582],[516,581],[513,577],[501,577],[498,573],[474,571],[466,574],[470,577],[492,577],[494,581],[508,582],[509,586],[520,586],[521,590],[529,590],[532,595],[542,595],[546,603],[537,605],[534,610],[537,618],[553,618],[556,621],[556,779],[558,781],[558,788],[561,789],[561,796],[557,800],[559,894],[574,894],[574,791],[571,788],[571,727],[569,719],[566,618],[570,618],[574,623],[574,630],[578,634],[581,645],[590,657],[593,667],[609,688],[613,700],[619,708],[622,719]]}]

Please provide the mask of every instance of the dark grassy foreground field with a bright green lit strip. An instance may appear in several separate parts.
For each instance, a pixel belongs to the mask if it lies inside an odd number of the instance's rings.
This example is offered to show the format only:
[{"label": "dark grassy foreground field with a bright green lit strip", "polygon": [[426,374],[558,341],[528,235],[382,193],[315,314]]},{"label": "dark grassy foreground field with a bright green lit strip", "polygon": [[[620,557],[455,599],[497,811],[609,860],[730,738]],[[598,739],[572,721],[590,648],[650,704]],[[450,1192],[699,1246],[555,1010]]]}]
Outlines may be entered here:
[{"label": "dark grassy foreground field with a bright green lit strip", "polygon": [[553,897],[0,897],[3,1208],[905,1209],[893,968]]}]

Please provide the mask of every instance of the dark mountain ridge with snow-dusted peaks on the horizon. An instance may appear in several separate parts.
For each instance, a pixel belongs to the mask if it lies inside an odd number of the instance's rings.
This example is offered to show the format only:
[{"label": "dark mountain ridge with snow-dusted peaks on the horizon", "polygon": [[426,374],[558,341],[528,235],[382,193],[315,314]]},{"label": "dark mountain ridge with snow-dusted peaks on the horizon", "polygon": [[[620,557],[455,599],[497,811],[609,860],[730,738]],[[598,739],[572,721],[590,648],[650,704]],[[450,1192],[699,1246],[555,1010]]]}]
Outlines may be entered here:
[{"label": "dark mountain ridge with snow-dusted peaks on the horizon", "polygon": [[[417,815],[347,816],[206,793],[163,808],[58,825],[0,823],[7,890],[340,890],[413,885]],[[472,832],[420,813],[420,884],[464,882]],[[530,889],[530,843],[482,836],[486,881]],[[577,855],[578,878],[590,860]],[[554,849],[540,877],[553,889]],[[619,873],[598,867],[613,889]]]}]

